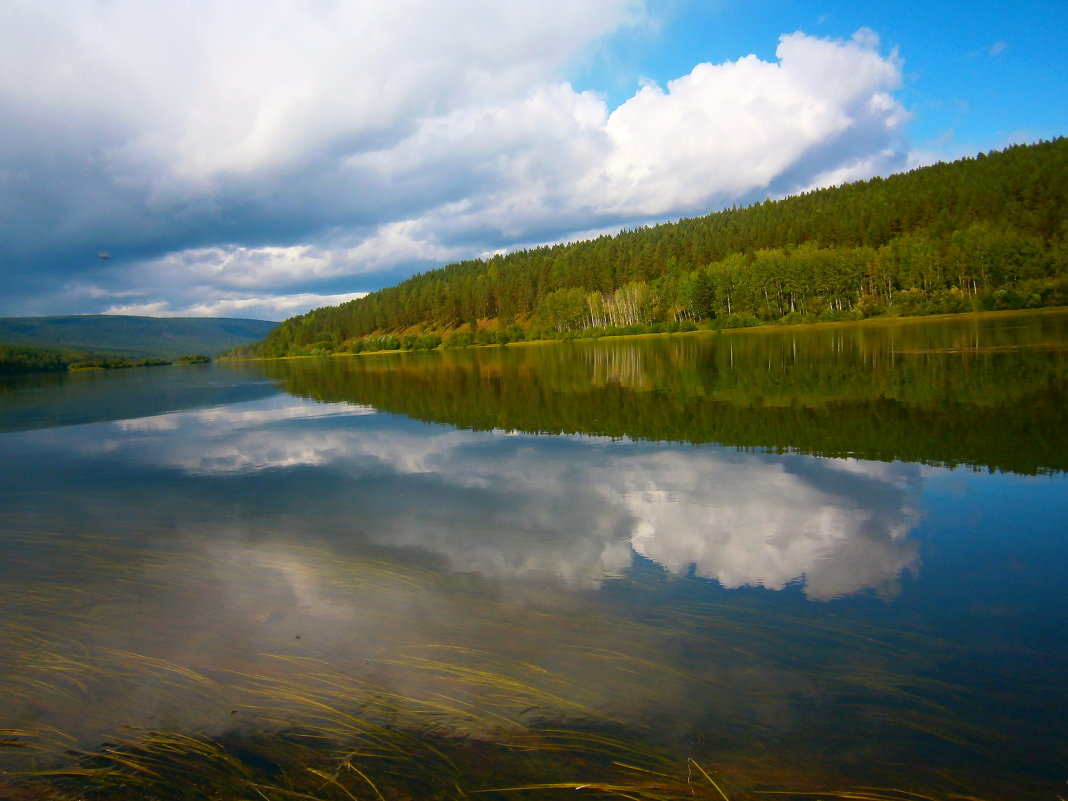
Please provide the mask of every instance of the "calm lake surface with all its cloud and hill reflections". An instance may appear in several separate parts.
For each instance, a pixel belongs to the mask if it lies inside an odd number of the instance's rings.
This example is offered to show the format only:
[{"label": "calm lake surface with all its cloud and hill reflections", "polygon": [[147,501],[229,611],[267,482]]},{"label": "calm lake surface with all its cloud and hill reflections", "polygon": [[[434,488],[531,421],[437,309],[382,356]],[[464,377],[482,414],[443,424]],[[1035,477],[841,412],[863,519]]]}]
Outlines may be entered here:
[{"label": "calm lake surface with all its cloud and hill reflections", "polygon": [[373,724],[507,747],[498,788],[537,751],[1054,801],[1066,348],[1048,313],[6,383],[0,795],[164,731],[366,773]]}]

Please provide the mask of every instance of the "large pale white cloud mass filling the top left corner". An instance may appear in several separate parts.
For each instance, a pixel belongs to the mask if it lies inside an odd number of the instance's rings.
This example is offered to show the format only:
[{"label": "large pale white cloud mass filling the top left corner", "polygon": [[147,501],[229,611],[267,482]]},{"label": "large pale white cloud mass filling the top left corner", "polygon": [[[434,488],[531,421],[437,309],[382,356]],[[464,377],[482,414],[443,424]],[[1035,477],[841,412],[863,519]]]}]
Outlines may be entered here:
[{"label": "large pale white cloud mass filling the top left corner", "polygon": [[160,186],[199,184],[509,96],[621,25],[628,5],[14,2],[0,81],[38,107],[116,120],[114,163],[158,161]]}]

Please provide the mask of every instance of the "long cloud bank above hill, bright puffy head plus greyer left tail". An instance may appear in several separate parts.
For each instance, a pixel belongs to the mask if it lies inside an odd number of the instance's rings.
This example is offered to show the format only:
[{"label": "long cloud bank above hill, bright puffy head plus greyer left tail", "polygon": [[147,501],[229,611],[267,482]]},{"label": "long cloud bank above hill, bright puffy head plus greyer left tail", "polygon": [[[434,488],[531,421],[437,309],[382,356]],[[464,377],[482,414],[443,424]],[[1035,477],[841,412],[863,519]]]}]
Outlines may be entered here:
[{"label": "long cloud bank above hill, bright puffy head plus greyer left tail", "polygon": [[[902,163],[895,54],[796,33],[776,62],[698,64],[663,91],[646,84],[609,112],[567,84],[424,120],[390,150],[349,159],[382,184],[473,172],[461,200],[422,216],[427,232],[491,226],[522,239],[563,220],[662,217],[771,191],[838,183]],[[811,163],[808,163],[811,162]]]}]

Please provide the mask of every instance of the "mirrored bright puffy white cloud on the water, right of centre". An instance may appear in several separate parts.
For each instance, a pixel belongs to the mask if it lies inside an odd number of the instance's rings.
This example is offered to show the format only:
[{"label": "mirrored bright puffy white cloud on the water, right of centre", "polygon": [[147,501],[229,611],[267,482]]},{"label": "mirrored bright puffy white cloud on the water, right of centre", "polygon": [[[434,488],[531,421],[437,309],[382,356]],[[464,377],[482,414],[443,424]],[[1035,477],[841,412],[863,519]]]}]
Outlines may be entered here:
[{"label": "mirrored bright puffy white cloud on the water, right of centre", "polygon": [[808,598],[896,592],[918,567],[915,466],[847,460],[697,465],[661,453],[631,466],[624,494],[634,550],[675,574],[693,569],[725,587],[782,590]]}]

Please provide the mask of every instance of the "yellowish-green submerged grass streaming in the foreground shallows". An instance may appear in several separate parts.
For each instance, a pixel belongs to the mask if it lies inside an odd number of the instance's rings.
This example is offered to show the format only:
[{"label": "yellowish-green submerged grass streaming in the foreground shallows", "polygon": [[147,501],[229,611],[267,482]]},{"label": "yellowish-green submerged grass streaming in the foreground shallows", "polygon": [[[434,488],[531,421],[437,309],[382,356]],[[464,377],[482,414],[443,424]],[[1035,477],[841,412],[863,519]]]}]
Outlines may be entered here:
[{"label": "yellowish-green submerged grass streaming in the foreground shallows", "polygon": [[[2,781],[44,797],[520,799],[556,798],[569,790],[648,801],[739,801],[766,796],[784,781],[788,784],[780,787],[802,792],[782,790],[778,797],[806,797],[803,788],[828,775],[827,765],[813,764],[806,774],[803,760],[812,755],[802,748],[792,767],[767,770],[768,760],[790,743],[778,743],[763,756],[747,753],[753,737],[772,736],[773,729],[759,720],[732,721],[724,713],[720,738],[686,745],[688,735],[674,724],[643,720],[641,703],[629,708],[607,703],[617,694],[640,698],[640,688],[656,681],[661,690],[672,688],[670,694],[681,703],[690,694],[722,694],[724,709],[729,709],[727,696],[737,695],[739,686],[728,675],[737,671],[792,676],[792,689],[783,689],[778,680],[752,682],[747,692],[771,704],[769,708],[807,688],[835,695],[842,713],[852,706],[852,713],[884,728],[923,728],[951,741],[973,734],[954,734],[957,724],[932,701],[932,695],[967,698],[967,689],[878,668],[886,655],[908,651],[914,644],[911,634],[898,639],[882,629],[876,637],[818,616],[772,623],[759,609],[747,612],[726,604],[675,602],[661,611],[655,600],[642,619],[602,614],[596,604],[587,604],[582,614],[551,607],[528,614],[470,577],[305,547],[285,554],[271,551],[257,569],[289,569],[299,554],[302,564],[315,566],[320,584],[332,588],[339,603],[357,603],[368,592],[399,592],[406,602],[433,599],[441,597],[442,584],[459,584],[462,592],[450,597],[462,597],[477,610],[480,626],[501,621],[504,635],[518,614],[529,628],[512,638],[508,648],[494,651],[474,644],[485,641],[485,632],[472,640],[462,626],[452,632],[451,642],[418,641],[411,632],[388,627],[377,637],[388,633],[389,642],[362,656],[351,651],[351,643],[337,640],[327,643],[324,653],[309,653],[305,640],[281,634],[267,643],[282,646],[274,651],[198,651],[193,661],[101,647],[100,642],[113,640],[115,616],[135,602],[143,604],[144,587],[186,593],[182,575],[199,575],[203,560],[176,546],[157,548],[146,557],[121,539],[94,545],[99,550],[90,569],[99,583],[94,591],[82,591],[98,593],[94,606],[72,608],[56,587],[38,585],[30,592],[28,585],[19,596],[21,614],[0,624],[16,657],[7,662],[13,670],[0,673],[0,689],[6,697],[21,700],[16,709],[27,710],[17,726],[0,731]],[[79,549],[74,553],[77,559]],[[119,574],[124,580],[112,582]],[[202,588],[213,581],[218,579],[202,579]],[[692,580],[676,580],[687,581]],[[158,602],[166,606],[169,596],[164,593]],[[57,612],[65,621],[64,635],[28,630],[28,619]],[[532,647],[550,629],[553,650]],[[849,653],[851,663],[814,669],[811,660],[784,650],[784,643],[805,641],[807,647],[818,641],[820,647]],[[167,639],[140,642],[159,648]],[[608,642],[612,647],[603,644]],[[684,645],[693,658],[676,658],[673,651]],[[929,649],[931,642],[924,645]],[[195,713],[180,727],[167,725],[166,718],[157,725],[109,723],[108,716],[98,714],[98,705],[113,701],[119,687],[152,688],[156,706]],[[36,720],[27,705],[36,709]],[[43,709],[48,710],[44,716]],[[183,718],[176,714],[176,720]],[[63,722],[82,731],[61,735],[57,728]],[[85,731],[87,723],[97,728]],[[767,770],[763,776],[761,765]],[[869,801],[908,797],[893,789],[860,788],[814,796]],[[913,791],[913,797],[951,796]]]}]

